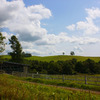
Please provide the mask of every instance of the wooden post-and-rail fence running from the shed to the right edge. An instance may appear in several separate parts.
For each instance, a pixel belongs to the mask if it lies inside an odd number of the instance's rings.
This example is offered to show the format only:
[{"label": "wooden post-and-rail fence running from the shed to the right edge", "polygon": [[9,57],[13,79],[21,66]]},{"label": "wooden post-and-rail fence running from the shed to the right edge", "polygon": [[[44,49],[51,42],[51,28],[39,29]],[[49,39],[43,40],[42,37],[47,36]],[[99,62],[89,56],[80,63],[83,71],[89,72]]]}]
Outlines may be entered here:
[{"label": "wooden post-and-rail fence running from the shed to the right edge", "polygon": [[33,74],[33,73],[22,73],[22,72],[13,72],[12,75],[19,77],[32,77],[40,78],[46,80],[56,80],[59,82],[67,83],[77,83],[77,84],[87,84],[87,85],[97,85],[100,86],[100,76],[93,75],[46,75],[46,74]]}]

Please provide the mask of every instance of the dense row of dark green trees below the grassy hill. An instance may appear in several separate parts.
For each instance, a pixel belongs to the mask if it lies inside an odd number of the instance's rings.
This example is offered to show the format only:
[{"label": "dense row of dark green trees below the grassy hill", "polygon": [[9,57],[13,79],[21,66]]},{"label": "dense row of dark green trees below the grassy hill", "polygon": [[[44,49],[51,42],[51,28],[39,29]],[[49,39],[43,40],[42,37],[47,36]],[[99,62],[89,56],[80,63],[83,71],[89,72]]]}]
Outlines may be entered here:
[{"label": "dense row of dark green trees below the grassy hill", "polygon": [[30,61],[30,72],[45,74],[100,74],[100,62],[96,63],[91,59],[83,62],[75,58],[67,61],[43,62],[38,60]]}]

